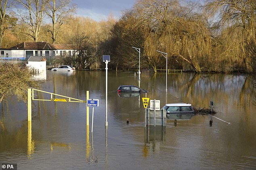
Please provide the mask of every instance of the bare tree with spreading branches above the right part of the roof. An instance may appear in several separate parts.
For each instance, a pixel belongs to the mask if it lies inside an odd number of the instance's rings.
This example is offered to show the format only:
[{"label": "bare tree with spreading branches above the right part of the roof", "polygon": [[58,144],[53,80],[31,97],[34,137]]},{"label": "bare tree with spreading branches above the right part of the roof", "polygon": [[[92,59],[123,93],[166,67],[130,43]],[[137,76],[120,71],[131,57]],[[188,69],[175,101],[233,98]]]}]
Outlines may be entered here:
[{"label": "bare tree with spreading branches above the right part of the roof", "polygon": [[46,14],[52,21],[52,28],[48,31],[50,32],[50,37],[54,44],[59,35],[61,26],[70,19],[70,16],[76,10],[76,6],[71,3],[71,0],[49,0],[47,6]]}]

